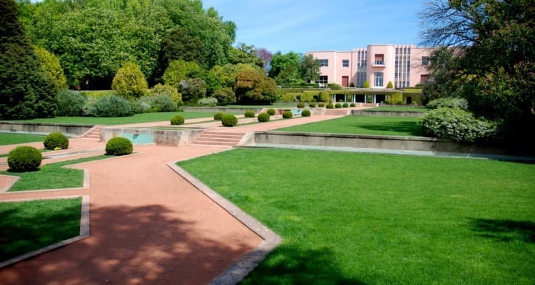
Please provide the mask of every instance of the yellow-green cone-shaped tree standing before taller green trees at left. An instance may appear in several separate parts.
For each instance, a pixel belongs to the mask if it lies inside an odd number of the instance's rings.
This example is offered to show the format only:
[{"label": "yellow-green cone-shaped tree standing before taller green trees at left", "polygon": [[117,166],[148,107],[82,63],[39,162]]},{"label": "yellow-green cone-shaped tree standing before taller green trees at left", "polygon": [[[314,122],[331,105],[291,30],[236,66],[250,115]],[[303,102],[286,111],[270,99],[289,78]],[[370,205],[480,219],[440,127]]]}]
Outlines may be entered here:
[{"label": "yellow-green cone-shaped tree standing before taller green trees at left", "polygon": [[139,98],[148,93],[148,84],[136,63],[124,63],[113,78],[111,88],[124,98]]}]

